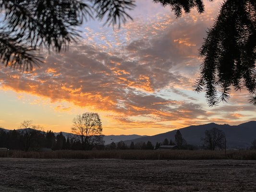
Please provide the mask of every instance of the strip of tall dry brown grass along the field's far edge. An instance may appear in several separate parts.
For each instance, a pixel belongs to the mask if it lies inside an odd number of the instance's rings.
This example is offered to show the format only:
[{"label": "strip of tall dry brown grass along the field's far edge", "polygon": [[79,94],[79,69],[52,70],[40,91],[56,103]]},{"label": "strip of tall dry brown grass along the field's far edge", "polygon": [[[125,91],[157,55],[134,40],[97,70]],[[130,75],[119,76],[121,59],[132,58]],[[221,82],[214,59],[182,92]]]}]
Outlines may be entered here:
[{"label": "strip of tall dry brown grass along the field's far edge", "polygon": [[45,159],[94,159],[94,158],[114,158],[114,159],[172,159],[172,160],[196,160],[196,159],[238,159],[238,160],[256,160],[256,150],[239,151],[187,151],[187,150],[110,150],[110,151],[51,151],[51,152],[24,152],[24,151],[0,151],[0,157],[11,158],[45,158]]}]

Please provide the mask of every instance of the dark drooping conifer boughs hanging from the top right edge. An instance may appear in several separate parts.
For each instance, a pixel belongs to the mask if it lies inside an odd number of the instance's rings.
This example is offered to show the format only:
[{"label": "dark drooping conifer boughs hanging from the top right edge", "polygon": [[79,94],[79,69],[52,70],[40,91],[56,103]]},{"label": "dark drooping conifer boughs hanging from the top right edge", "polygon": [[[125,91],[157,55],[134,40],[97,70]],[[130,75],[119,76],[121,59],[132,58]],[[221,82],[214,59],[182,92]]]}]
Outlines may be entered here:
[{"label": "dark drooping conifer boughs hanging from the top right edge", "polygon": [[[213,1],[213,0],[210,0]],[[176,17],[196,8],[203,13],[203,0],[154,0],[170,6]],[[228,101],[231,87],[246,88],[256,105],[256,1],[224,0],[200,49],[203,57],[195,91],[206,89],[209,106]]]}]

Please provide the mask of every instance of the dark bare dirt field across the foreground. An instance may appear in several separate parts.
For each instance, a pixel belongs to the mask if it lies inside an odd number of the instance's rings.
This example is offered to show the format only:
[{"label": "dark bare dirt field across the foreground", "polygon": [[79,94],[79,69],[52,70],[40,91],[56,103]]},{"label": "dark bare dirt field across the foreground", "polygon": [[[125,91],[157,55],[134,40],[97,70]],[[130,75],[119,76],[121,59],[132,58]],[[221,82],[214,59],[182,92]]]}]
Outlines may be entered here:
[{"label": "dark bare dirt field across the foreground", "polygon": [[0,192],[256,192],[256,161],[0,158]]}]

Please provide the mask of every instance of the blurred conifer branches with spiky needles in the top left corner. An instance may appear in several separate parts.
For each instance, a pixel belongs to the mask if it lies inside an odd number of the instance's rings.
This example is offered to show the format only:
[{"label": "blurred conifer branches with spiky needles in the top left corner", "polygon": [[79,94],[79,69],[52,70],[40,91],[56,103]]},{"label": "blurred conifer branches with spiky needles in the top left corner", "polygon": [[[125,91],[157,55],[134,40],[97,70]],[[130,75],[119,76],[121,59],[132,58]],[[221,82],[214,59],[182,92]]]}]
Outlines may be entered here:
[{"label": "blurred conifer branches with spiky needles in the top left corner", "polygon": [[79,37],[75,27],[90,18],[120,26],[134,6],[134,0],[1,0],[0,62],[33,70],[39,49],[66,50]]}]

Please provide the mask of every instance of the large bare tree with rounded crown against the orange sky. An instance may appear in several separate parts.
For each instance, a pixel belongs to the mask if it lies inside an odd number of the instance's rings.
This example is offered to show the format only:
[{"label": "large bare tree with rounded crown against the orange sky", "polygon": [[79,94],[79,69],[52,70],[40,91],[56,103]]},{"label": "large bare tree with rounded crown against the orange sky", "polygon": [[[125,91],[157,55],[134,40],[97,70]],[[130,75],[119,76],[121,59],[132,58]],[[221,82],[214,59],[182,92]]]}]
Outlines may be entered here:
[{"label": "large bare tree with rounded crown against the orange sky", "polygon": [[77,115],[71,129],[80,137],[85,150],[102,143],[102,124],[98,113]]}]

